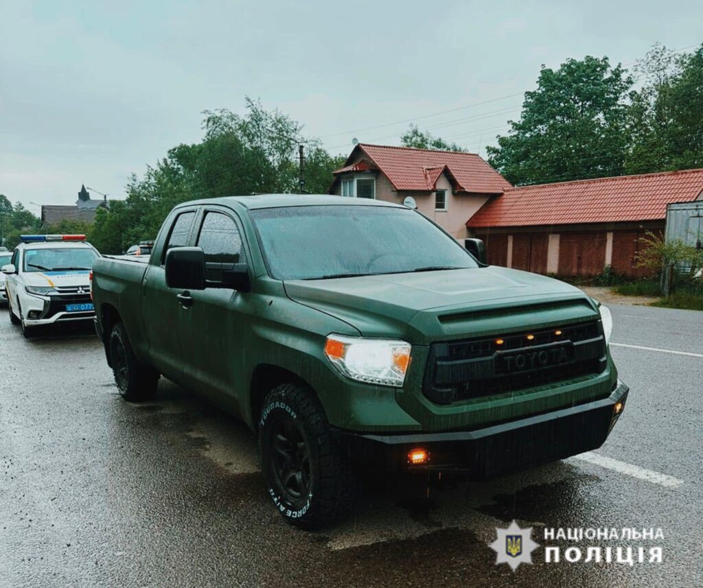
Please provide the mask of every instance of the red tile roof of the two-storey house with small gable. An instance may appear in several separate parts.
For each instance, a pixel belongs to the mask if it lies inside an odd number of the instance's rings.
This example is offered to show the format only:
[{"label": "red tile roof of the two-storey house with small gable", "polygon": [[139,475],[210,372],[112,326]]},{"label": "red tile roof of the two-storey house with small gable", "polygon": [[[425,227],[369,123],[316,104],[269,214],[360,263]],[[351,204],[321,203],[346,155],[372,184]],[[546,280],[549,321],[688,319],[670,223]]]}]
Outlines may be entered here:
[{"label": "red tile roof of the two-storey house with small gable", "polygon": [[378,166],[396,190],[432,191],[445,170],[460,192],[502,194],[505,188],[510,188],[510,183],[475,153],[359,143],[349,159],[358,150]]}]

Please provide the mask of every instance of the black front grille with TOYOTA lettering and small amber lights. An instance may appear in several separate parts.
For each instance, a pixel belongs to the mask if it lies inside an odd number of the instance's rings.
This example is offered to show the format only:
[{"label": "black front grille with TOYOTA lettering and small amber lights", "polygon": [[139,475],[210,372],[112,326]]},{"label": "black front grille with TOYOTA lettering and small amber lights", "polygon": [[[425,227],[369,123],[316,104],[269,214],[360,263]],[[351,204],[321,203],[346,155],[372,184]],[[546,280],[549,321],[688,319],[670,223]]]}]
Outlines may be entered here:
[{"label": "black front grille with TOYOTA lettering and small amber lights", "polygon": [[430,346],[423,393],[439,404],[600,374],[600,321]]}]

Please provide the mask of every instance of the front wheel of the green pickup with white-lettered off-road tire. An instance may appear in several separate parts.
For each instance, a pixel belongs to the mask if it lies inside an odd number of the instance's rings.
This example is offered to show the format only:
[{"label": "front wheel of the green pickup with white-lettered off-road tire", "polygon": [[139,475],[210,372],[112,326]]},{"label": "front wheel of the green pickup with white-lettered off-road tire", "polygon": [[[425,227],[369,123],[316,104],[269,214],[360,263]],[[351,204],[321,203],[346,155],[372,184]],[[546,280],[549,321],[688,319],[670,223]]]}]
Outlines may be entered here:
[{"label": "front wheel of the green pickup with white-lettered off-road tire", "polygon": [[[304,443],[300,451],[306,452],[308,459],[308,481],[304,491],[297,488],[299,498],[293,496],[281,481],[281,478],[290,478],[290,471],[295,469],[295,465],[291,466],[287,476],[281,464],[290,465],[295,460],[276,450],[287,443],[281,441],[280,436],[283,434],[285,438],[287,426],[292,428],[294,436],[295,431],[300,434]],[[299,447],[300,443],[288,443],[291,445]],[[310,388],[300,384],[281,384],[266,396],[259,419],[259,451],[266,490],[287,521],[312,530],[332,525],[349,514],[354,503],[356,481],[335,443],[320,400]],[[295,476],[291,479],[295,485]]]}]

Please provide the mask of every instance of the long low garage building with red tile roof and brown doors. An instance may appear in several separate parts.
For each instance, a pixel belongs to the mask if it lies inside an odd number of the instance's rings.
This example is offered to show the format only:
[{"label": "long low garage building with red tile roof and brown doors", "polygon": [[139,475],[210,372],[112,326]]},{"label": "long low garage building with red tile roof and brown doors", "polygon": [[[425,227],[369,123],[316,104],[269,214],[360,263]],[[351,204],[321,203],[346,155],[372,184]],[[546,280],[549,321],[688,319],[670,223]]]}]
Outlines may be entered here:
[{"label": "long low garage building with red tile roof and brown doors", "polygon": [[489,263],[565,276],[643,275],[641,238],[664,233],[666,207],[703,200],[703,169],[505,188],[467,218]]}]

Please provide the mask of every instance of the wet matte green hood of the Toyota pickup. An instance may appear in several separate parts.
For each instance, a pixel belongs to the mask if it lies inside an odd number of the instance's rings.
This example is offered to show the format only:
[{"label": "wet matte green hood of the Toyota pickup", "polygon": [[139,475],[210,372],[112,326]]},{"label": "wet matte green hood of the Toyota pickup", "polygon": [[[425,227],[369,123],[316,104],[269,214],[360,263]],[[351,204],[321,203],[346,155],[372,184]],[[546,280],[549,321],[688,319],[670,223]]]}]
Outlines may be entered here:
[{"label": "wet matte green hood of the Toyota pickup", "polygon": [[401,337],[413,344],[598,316],[578,288],[498,266],[288,280],[285,290],[292,300],[340,318],[364,336]]}]

